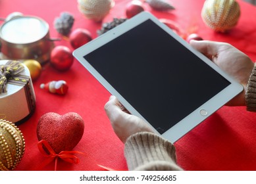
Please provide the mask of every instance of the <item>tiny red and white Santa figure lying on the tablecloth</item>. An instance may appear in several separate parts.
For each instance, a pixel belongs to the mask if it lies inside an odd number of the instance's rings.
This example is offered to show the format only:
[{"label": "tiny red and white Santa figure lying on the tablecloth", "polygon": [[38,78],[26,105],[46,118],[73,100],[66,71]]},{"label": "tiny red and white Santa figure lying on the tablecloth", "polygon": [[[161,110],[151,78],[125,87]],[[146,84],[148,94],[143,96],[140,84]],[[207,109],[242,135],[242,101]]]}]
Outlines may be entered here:
[{"label": "tiny red and white Santa figure lying on the tablecloth", "polygon": [[68,92],[68,85],[63,80],[41,83],[40,88],[59,95],[65,95]]}]

